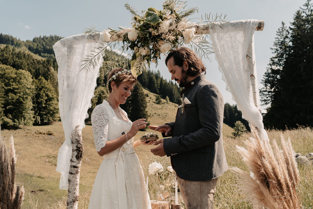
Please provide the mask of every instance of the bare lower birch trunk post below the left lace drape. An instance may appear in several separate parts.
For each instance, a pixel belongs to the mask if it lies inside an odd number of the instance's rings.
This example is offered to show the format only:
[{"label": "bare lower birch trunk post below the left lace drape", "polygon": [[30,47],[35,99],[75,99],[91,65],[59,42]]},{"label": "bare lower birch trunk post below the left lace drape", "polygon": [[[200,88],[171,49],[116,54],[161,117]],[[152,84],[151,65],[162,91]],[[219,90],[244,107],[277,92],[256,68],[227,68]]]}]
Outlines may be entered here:
[{"label": "bare lower birch trunk post below the left lace drape", "polygon": [[81,160],[84,156],[83,139],[80,125],[77,125],[71,135],[72,157],[69,167],[69,189],[67,195],[66,207],[77,209],[79,196],[79,176]]}]

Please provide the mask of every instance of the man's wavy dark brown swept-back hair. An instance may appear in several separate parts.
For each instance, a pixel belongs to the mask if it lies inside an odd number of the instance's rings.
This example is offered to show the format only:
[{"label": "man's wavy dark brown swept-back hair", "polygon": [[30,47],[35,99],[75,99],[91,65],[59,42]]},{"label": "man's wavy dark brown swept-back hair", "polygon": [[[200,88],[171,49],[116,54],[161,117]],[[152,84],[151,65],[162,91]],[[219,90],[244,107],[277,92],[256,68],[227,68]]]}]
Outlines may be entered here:
[{"label": "man's wavy dark brown swept-back hair", "polygon": [[187,61],[189,68],[187,70],[187,76],[193,77],[198,76],[204,72],[206,74],[206,67],[203,61],[196,55],[194,51],[186,47],[181,47],[176,50],[172,50],[165,59],[165,65],[167,66],[167,61],[173,57],[174,65],[182,67],[184,61]]}]

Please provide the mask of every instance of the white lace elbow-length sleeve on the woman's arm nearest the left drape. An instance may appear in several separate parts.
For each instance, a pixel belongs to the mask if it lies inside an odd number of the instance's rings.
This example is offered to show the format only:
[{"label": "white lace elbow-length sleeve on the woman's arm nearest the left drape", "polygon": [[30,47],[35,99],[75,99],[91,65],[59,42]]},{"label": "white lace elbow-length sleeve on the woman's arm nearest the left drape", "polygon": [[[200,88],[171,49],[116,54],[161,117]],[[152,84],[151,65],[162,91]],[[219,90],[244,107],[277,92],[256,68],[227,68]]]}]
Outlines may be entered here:
[{"label": "white lace elbow-length sleeve on the woman's arm nearest the left drape", "polygon": [[109,115],[104,107],[98,105],[91,113],[92,131],[94,133],[95,147],[99,152],[108,140]]}]

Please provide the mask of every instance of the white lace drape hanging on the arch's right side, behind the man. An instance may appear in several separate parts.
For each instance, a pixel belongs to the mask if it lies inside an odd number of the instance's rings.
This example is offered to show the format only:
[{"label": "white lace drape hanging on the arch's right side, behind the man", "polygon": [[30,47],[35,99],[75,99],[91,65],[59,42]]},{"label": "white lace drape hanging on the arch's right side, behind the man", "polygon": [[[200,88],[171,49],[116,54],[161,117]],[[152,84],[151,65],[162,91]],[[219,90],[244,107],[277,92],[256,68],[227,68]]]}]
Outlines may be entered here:
[{"label": "white lace drape hanging on the arch's right side, behind the man", "polygon": [[[223,80],[226,82],[227,90],[233,95],[234,101],[241,110],[243,117],[251,125],[258,128],[261,138],[267,139],[264,130],[262,115],[255,106],[259,107],[259,89],[252,89],[250,75],[253,74],[257,84],[257,73],[254,53],[254,31],[259,20],[239,20],[227,24],[214,25],[210,29],[215,58],[222,72]],[[247,51],[252,47],[253,69],[250,69],[247,61]],[[251,71],[253,73],[251,73]]]}]

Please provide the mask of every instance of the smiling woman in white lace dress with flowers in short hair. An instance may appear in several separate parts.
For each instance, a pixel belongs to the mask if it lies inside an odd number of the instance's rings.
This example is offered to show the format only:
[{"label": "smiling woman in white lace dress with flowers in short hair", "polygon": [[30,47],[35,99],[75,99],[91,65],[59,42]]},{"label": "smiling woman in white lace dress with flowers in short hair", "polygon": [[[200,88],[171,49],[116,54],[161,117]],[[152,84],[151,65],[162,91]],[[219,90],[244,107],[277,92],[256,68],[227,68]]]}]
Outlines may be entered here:
[{"label": "smiling woman in white lace dress with flowers in short hair", "polygon": [[145,177],[134,148],[150,145],[133,141],[146,119],[131,122],[119,107],[131,95],[137,79],[123,68],[112,70],[108,76],[109,97],[97,105],[91,114],[95,147],[103,162],[95,178],[89,208],[151,208]]}]

